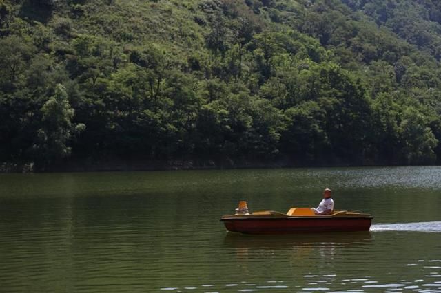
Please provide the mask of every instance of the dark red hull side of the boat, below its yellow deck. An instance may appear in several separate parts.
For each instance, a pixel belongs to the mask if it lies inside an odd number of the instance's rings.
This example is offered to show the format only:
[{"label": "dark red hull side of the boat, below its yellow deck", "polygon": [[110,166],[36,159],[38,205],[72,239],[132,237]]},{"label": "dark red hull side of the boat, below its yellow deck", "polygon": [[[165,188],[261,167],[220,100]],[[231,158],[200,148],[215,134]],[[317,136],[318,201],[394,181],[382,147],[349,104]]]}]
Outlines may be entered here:
[{"label": "dark red hull side of the boat, below its yellow deck", "polygon": [[244,234],[369,231],[372,217],[242,217],[224,216],[225,228]]}]

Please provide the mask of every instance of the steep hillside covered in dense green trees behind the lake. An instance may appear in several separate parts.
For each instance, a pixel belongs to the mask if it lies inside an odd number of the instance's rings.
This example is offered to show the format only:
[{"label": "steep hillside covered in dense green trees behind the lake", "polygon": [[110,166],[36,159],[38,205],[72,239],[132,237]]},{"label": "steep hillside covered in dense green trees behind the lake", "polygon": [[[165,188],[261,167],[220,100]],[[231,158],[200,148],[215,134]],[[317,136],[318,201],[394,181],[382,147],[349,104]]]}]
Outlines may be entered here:
[{"label": "steep hillside covered in dense green trees behind the lake", "polygon": [[436,0],[0,0],[0,162],[435,164],[440,58]]}]

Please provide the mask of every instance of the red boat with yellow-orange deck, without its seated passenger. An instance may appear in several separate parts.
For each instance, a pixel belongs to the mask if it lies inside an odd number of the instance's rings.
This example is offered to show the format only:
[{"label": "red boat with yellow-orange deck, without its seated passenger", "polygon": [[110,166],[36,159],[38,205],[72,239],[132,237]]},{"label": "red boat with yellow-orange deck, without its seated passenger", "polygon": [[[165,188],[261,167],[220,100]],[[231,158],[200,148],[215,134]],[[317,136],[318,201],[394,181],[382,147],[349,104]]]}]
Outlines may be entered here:
[{"label": "red boat with yellow-orange deck, without its seated passenger", "polygon": [[291,208],[286,214],[267,210],[245,215],[225,215],[220,221],[230,232],[288,234],[369,231],[372,219],[369,214],[346,210],[335,210],[331,215],[315,215],[310,208]]}]

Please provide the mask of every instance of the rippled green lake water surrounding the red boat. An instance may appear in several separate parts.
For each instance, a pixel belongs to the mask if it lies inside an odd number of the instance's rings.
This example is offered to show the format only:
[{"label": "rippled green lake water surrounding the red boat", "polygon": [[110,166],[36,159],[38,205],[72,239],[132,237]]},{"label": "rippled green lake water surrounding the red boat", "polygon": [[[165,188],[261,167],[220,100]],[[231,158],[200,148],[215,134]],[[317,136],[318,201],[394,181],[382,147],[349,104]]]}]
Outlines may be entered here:
[{"label": "rippled green lake water surrounding the red boat", "polygon": [[[317,206],[370,232],[235,235]],[[0,174],[0,292],[441,292],[441,167]]]}]

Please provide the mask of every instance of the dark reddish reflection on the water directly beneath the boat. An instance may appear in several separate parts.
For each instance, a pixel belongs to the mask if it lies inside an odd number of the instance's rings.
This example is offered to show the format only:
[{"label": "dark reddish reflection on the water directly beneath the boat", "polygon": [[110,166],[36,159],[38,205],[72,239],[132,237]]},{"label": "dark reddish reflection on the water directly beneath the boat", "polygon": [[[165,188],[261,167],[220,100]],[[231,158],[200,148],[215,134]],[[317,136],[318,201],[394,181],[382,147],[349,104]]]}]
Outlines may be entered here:
[{"label": "dark reddish reflection on the water directly beneath the boat", "polygon": [[232,248],[283,249],[300,246],[356,246],[371,241],[370,232],[298,233],[291,235],[243,235],[227,232],[225,246]]}]

